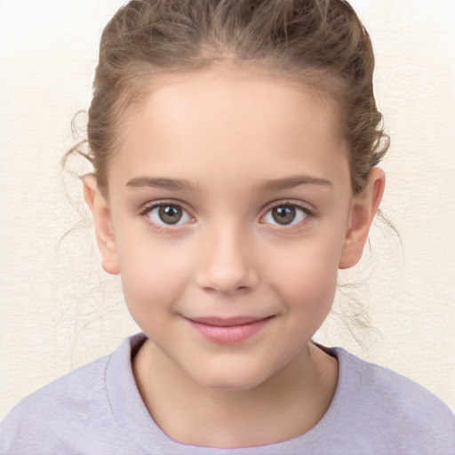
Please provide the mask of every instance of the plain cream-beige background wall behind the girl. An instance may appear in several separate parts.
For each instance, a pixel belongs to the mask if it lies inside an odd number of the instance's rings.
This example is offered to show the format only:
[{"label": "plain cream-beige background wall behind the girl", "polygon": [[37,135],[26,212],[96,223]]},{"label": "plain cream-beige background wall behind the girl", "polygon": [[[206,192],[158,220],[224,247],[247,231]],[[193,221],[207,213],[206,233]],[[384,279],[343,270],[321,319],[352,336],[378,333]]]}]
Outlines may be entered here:
[{"label": "plain cream-beige background wall behind the girl", "polygon": [[[88,108],[100,31],[120,4],[0,2],[0,417],[137,331],[118,280],[100,271],[80,182],[60,170],[71,118]],[[383,210],[403,248],[378,225],[371,253],[342,277],[370,311],[374,329],[355,331],[363,347],[336,315],[317,339],[402,372],[455,410],[455,1],[352,4],[377,52],[393,140]],[[353,307],[352,292],[337,302]]]}]

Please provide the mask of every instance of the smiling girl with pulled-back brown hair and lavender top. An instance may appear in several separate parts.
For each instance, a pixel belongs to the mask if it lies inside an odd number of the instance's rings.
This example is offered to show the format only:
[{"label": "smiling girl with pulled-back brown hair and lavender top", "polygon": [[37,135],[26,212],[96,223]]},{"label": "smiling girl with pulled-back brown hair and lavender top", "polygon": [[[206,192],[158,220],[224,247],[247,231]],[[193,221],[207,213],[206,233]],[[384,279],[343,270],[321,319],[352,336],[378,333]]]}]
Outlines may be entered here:
[{"label": "smiling girl with pulled-back brown hair and lavender top", "polygon": [[454,452],[434,395],[312,341],[384,191],[373,66],[341,0],[116,13],[84,197],[143,333],[20,403],[3,453]]}]

